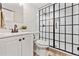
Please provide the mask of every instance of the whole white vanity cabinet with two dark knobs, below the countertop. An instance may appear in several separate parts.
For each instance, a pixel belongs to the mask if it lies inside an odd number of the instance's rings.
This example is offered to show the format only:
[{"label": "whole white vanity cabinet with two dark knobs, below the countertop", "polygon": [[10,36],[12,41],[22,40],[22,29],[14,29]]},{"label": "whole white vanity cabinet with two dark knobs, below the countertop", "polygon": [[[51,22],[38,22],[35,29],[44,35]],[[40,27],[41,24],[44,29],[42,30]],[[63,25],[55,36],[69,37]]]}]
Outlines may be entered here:
[{"label": "whole white vanity cabinet with two dark knobs, below the countertop", "polygon": [[32,56],[33,35],[24,34],[0,39],[0,56]]}]

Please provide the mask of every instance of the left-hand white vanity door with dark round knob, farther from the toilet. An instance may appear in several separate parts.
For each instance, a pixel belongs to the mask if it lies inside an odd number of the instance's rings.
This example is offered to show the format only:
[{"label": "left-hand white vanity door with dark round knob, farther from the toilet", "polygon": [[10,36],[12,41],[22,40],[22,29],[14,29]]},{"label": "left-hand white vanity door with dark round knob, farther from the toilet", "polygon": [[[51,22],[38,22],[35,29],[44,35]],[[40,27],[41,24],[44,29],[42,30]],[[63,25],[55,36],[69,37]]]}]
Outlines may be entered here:
[{"label": "left-hand white vanity door with dark round knob, farther from the toilet", "polygon": [[21,41],[19,41],[19,38],[11,37],[8,39],[6,42],[7,55],[21,56]]}]

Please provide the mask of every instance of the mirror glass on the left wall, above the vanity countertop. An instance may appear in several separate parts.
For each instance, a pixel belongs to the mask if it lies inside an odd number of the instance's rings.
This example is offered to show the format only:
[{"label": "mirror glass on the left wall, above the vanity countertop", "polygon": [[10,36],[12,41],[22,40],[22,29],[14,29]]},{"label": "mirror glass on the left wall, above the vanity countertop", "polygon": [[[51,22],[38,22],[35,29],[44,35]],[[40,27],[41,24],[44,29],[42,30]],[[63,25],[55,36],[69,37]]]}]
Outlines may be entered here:
[{"label": "mirror glass on the left wall, above the vanity countertop", "polygon": [[4,24],[6,29],[13,28],[14,26],[14,12],[2,9],[4,15]]}]

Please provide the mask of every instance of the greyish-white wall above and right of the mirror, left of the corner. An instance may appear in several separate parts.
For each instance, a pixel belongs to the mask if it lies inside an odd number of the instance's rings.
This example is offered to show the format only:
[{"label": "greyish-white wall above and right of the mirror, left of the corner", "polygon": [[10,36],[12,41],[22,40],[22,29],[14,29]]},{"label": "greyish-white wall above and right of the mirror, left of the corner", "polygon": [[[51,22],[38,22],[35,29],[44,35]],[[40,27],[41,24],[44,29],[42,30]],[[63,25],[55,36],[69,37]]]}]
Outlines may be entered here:
[{"label": "greyish-white wall above and right of the mirror, left of the corner", "polygon": [[2,3],[2,7],[14,11],[14,18],[16,23],[23,22],[23,7],[19,6],[19,3]]}]

